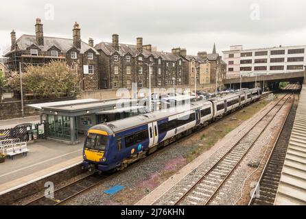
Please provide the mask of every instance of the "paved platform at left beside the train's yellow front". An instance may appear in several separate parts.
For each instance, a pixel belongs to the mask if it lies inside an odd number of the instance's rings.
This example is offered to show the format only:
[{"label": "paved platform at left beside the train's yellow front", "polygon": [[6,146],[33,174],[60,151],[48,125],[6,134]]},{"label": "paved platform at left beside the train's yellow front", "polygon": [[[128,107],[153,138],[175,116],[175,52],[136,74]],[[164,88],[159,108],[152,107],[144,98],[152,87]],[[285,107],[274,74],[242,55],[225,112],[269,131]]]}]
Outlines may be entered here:
[{"label": "paved platform at left beside the train's yellow front", "polygon": [[37,140],[27,144],[27,156],[16,155],[0,164],[0,194],[43,179],[69,166],[82,162],[82,146],[53,140]]}]

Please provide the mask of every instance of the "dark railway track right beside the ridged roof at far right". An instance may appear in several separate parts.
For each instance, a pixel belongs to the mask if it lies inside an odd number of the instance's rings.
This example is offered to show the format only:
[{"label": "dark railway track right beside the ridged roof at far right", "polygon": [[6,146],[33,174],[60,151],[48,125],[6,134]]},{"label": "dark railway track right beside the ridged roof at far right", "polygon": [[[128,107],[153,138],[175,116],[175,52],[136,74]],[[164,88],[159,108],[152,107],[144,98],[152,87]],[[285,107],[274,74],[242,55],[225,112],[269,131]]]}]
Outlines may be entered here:
[{"label": "dark railway track right beside the ridged roof at far right", "polygon": [[285,162],[285,155],[294,124],[296,108],[297,104],[293,104],[279,133],[279,138],[276,140],[270,153],[268,162],[259,178],[259,183],[257,183],[255,188],[256,194],[255,192],[252,194],[249,205],[274,205],[277,188],[281,179],[281,170]]}]

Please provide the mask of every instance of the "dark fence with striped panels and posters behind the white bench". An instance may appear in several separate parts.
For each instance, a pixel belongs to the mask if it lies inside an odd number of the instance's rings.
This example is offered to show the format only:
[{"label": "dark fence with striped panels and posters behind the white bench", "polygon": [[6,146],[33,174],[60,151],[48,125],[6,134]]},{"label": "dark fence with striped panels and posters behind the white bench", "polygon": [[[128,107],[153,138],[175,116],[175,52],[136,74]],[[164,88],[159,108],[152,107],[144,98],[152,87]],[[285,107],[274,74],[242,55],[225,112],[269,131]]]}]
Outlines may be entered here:
[{"label": "dark fence with striped panels and posters behind the white bench", "polygon": [[35,139],[45,139],[48,136],[47,123],[37,123],[33,125],[17,126],[10,129],[0,129],[0,140],[19,139],[27,142]]}]

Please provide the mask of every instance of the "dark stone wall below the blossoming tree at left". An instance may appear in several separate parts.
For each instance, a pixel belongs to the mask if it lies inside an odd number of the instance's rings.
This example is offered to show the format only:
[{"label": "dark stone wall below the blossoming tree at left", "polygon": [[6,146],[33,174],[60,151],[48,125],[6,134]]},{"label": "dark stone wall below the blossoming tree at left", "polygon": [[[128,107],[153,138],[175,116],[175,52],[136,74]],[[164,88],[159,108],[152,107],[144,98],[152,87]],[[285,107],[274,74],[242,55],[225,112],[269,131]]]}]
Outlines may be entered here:
[{"label": "dark stone wall below the blossoming tree at left", "polygon": [[[30,107],[27,107],[28,104],[35,103],[47,103],[47,102],[55,102],[55,101],[69,101],[76,99],[75,97],[61,97],[57,99],[38,99],[38,100],[30,100],[23,101],[23,110],[25,112],[25,116],[33,116],[38,115],[38,110],[34,110]],[[21,117],[21,101],[10,101],[0,103],[0,120],[8,119],[8,118],[18,118]]]}]

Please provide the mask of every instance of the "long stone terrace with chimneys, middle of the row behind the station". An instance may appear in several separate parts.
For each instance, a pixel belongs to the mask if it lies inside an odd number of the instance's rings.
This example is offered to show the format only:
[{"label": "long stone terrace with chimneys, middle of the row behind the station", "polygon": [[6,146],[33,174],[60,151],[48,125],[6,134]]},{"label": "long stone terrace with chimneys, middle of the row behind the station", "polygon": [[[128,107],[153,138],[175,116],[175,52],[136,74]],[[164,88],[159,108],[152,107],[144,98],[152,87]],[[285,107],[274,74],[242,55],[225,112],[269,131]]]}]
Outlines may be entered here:
[{"label": "long stone terrace with chimneys, middle of the row behind the station", "polygon": [[143,45],[143,38],[137,38],[136,45],[119,44],[118,34],[113,34],[113,42],[95,45],[99,52],[99,73],[102,89],[131,88],[137,83],[139,88],[184,84],[183,58],[174,53],[154,51],[151,44]]}]

